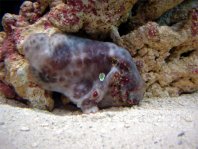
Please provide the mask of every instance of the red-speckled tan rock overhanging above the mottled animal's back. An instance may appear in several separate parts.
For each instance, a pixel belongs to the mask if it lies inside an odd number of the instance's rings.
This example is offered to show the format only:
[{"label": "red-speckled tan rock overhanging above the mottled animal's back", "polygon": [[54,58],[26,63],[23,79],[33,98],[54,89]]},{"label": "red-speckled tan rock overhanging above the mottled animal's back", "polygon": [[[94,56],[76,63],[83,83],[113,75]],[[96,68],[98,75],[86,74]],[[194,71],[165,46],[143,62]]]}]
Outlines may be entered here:
[{"label": "red-speckled tan rock overhanging above the mottled animal's back", "polygon": [[52,24],[66,32],[80,29],[90,34],[105,34],[111,26],[125,22],[137,0],[67,0],[48,15]]}]

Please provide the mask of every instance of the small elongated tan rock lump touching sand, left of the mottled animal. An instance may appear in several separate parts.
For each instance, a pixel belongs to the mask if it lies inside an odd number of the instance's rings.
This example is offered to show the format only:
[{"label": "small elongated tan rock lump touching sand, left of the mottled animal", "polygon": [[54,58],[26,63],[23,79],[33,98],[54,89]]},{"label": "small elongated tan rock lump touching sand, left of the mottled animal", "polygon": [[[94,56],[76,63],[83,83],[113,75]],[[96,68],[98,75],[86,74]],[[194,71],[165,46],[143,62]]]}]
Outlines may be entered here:
[{"label": "small elongated tan rock lump touching sand, left of the mottled animal", "polygon": [[16,93],[27,99],[33,108],[52,110],[54,101],[51,93],[41,89],[29,72],[27,61],[20,55],[10,56],[5,60],[6,81],[11,84]]}]

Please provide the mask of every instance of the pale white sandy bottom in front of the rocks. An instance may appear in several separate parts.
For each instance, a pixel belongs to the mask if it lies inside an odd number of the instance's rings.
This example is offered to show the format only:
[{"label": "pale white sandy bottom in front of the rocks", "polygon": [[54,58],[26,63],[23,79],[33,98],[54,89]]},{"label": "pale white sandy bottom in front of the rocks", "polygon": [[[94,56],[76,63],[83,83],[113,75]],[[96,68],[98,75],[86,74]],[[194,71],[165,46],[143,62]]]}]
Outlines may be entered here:
[{"label": "pale white sandy bottom in front of the rocks", "polygon": [[0,103],[0,149],[198,149],[198,93],[96,114]]}]

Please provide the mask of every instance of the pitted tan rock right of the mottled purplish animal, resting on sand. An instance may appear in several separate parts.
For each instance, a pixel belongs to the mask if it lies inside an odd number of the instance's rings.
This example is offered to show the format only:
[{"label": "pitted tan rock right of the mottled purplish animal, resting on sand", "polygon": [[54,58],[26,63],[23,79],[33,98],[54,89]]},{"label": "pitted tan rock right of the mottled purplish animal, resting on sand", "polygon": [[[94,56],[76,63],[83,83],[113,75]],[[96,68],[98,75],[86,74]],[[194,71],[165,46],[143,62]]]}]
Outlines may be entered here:
[{"label": "pitted tan rock right of the mottled purplish animal, resting on sand", "polygon": [[148,22],[114,40],[135,58],[146,82],[146,96],[176,96],[198,89],[198,10],[174,26]]}]

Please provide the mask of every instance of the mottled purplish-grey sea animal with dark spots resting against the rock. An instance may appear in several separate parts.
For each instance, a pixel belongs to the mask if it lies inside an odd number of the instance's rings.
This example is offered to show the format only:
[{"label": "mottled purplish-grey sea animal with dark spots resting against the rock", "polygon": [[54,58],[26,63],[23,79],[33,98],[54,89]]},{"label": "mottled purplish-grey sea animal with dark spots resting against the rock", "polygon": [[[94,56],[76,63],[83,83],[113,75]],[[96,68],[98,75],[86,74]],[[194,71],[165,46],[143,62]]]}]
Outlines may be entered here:
[{"label": "mottled purplish-grey sea animal with dark spots resting against the rock", "polygon": [[84,113],[138,104],[144,82],[126,49],[64,34],[33,34],[25,57],[38,84],[67,96]]}]

